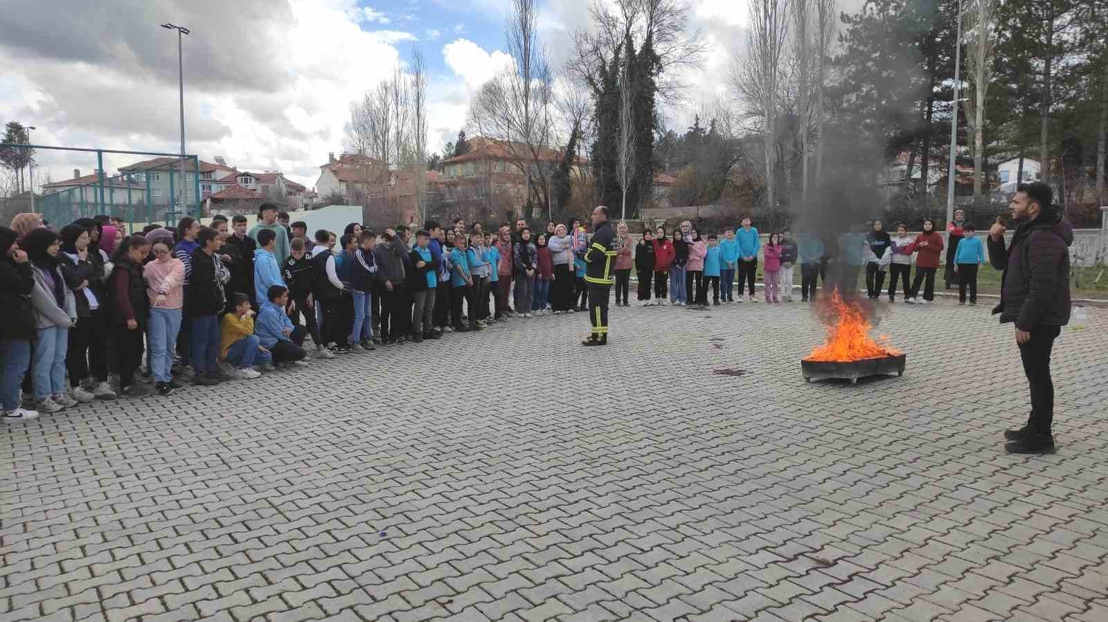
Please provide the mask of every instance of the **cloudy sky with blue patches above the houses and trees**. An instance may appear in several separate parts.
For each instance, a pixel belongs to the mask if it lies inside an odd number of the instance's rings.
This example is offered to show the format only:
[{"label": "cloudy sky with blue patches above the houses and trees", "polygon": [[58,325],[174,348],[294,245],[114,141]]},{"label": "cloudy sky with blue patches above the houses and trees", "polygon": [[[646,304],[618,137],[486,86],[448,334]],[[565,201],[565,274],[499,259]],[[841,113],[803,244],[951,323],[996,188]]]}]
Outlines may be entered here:
[{"label": "cloudy sky with blue patches above the houses and trees", "polygon": [[[540,25],[562,60],[588,0],[543,0]],[[721,87],[740,44],[742,0],[688,0],[709,44],[689,100]],[[340,152],[349,104],[419,46],[430,69],[429,145],[465,123],[471,92],[503,65],[510,0],[75,0],[22,2],[0,23],[0,123],[34,125],[43,145],[179,149],[176,34],[184,41],[186,151],[239,169],[279,169],[312,186]],[[110,7],[110,9],[109,9]],[[687,111],[670,111],[675,124]],[[57,180],[80,166],[40,153]],[[91,162],[85,156],[85,168]],[[111,172],[113,160],[105,168]],[[39,175],[37,175],[39,177]]]}]

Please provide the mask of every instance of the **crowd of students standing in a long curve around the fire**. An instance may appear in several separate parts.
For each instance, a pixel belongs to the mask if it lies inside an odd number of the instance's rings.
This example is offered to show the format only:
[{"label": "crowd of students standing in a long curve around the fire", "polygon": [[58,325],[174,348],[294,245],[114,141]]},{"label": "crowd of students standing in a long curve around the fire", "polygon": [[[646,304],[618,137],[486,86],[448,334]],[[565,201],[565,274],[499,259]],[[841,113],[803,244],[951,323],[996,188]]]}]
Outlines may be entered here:
[{"label": "crowd of students standing in a long curve around the fire", "polygon": [[[147,226],[124,235],[106,216],[82,218],[54,231],[35,214],[0,227],[0,356],[3,417],[33,418],[93,400],[170,395],[183,383],[215,385],[256,379],[306,359],[363,353],[380,345],[422,342],[448,332],[480,331],[515,315],[586,310],[587,232],[579,220],[550,221],[532,231],[519,219],[495,232],[481,224],[449,227],[428,221],[412,231],[378,234],[350,224],[342,234],[311,232],[279,221],[265,204],[247,230],[245,216],[211,227],[184,217],[175,229]],[[973,228],[965,226],[966,240]],[[762,248],[749,217],[738,229],[701,238],[688,222],[674,236],[665,227],[633,242],[618,224],[615,303],[629,304],[630,271],[638,303],[677,307],[755,301],[759,252],[767,302],[792,301],[793,266],[801,266],[801,300],[814,299],[828,263],[842,265],[853,289],[861,268],[871,298],[892,272],[906,302],[934,296],[943,248],[930,220],[909,238],[874,221],[830,239],[786,229]],[[976,300],[976,269],[984,250],[963,241],[955,258],[962,300]],[[916,274],[909,288],[911,262]],[[735,280],[739,298],[735,298]],[[668,289],[668,292],[667,292]],[[311,339],[311,349],[305,348]],[[146,366],[143,366],[145,355]],[[22,388],[22,395],[20,395]]]}]

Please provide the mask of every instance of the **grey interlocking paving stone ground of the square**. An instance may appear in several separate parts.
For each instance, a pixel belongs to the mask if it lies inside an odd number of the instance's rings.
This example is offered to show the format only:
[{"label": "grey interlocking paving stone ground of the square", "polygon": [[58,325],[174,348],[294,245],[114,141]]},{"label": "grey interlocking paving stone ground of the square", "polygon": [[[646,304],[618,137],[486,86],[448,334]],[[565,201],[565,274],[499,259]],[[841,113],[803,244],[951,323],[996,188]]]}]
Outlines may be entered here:
[{"label": "grey interlocking paving stone ground of the square", "polygon": [[856,386],[800,303],[612,317],[0,428],[0,619],[1108,620],[1108,310],[1044,457],[987,304],[893,307]]}]

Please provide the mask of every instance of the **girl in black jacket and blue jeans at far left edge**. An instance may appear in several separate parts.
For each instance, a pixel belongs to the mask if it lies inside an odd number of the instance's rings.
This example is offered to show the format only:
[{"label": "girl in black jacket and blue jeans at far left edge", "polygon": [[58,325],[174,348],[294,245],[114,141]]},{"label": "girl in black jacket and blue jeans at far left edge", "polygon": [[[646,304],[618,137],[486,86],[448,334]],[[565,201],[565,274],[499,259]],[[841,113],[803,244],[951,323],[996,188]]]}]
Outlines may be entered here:
[{"label": "girl in black jacket and blue jeans at far left edge", "polygon": [[35,338],[31,292],[34,274],[27,252],[16,246],[18,235],[0,227],[0,407],[6,423],[33,419],[37,411],[20,405],[19,387],[31,364]]}]

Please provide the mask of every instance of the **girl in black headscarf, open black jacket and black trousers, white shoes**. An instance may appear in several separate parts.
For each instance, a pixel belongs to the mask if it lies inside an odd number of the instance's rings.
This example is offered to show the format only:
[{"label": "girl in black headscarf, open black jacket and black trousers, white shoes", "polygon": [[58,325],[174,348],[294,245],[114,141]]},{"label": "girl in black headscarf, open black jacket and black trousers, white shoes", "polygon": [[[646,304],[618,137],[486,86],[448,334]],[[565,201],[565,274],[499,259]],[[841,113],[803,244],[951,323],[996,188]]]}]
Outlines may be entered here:
[{"label": "girl in black headscarf, open black jacket and black trousers, white shoes", "polygon": [[100,253],[92,248],[89,237],[89,230],[81,225],[66,225],[62,228],[58,256],[65,283],[73,290],[76,302],[76,324],[69,331],[65,367],[73,398],[83,403],[96,397],[115,398],[115,392],[107,384],[107,322],[104,319],[107,297],[103,272],[93,262]]}]

